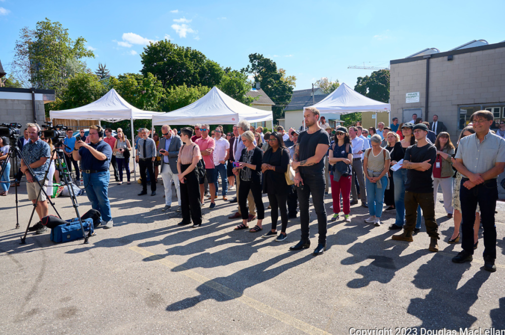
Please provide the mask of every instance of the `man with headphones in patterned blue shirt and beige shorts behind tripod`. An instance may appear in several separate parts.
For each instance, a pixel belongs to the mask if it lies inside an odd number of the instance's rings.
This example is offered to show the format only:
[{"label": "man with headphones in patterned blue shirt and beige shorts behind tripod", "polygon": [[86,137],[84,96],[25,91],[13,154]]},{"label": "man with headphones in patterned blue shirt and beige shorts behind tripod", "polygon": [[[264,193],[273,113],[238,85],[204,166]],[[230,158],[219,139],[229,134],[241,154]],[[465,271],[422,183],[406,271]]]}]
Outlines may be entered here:
[{"label": "man with headphones in patterned blue shirt and beige shorts behind tripod", "polygon": [[[47,198],[44,192],[40,192],[39,183],[36,182],[35,178],[40,181],[44,191],[46,186],[44,183],[45,171],[49,168],[49,157],[51,157],[51,148],[49,145],[40,139],[40,126],[36,123],[28,123],[26,125],[28,130],[28,137],[30,141],[23,146],[23,157],[21,160],[21,172],[26,176],[26,190],[28,193],[28,200],[32,203],[36,203],[37,206],[35,210],[37,211],[40,221],[35,224],[30,230],[37,230],[37,234],[41,234],[47,230],[46,226],[42,225],[42,218],[47,216]],[[30,175],[28,166],[33,170],[34,175]],[[38,194],[40,196],[37,198]]]}]

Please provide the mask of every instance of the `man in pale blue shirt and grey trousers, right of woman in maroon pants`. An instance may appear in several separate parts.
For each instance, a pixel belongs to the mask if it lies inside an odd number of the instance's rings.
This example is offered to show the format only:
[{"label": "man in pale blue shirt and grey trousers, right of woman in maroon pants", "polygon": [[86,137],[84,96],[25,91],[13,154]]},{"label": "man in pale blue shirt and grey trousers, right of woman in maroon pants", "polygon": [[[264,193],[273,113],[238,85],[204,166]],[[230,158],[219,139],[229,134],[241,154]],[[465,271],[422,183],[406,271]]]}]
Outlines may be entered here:
[{"label": "man in pale blue shirt and grey trousers, right of woman in maroon pants", "polygon": [[361,206],[368,208],[367,205],[367,190],[365,186],[365,175],[363,174],[363,153],[365,152],[364,145],[365,142],[368,145],[368,139],[363,139],[362,136],[358,136],[358,133],[361,133],[359,130],[363,128],[361,126],[358,127],[349,127],[349,136],[351,139],[352,145],[352,182],[351,182],[351,195],[352,201],[351,205],[358,204],[358,191],[356,189],[356,178],[358,178],[358,184],[360,185],[360,194],[361,194]]}]

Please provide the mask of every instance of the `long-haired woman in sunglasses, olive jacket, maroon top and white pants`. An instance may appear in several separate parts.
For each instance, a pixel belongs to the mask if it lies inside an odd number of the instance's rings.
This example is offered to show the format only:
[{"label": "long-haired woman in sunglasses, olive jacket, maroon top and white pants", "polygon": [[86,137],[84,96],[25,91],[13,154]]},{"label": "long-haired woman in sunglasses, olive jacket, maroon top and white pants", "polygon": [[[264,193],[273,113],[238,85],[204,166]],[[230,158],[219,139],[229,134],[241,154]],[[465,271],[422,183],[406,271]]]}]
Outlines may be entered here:
[{"label": "long-haired woman in sunglasses, olive jacket, maroon top and white pants", "polygon": [[455,148],[450,141],[449,133],[442,131],[435,141],[437,148],[437,158],[433,166],[433,198],[437,203],[438,185],[442,187],[443,207],[447,217],[452,217],[454,208],[452,207],[452,164],[450,159],[455,154]]}]

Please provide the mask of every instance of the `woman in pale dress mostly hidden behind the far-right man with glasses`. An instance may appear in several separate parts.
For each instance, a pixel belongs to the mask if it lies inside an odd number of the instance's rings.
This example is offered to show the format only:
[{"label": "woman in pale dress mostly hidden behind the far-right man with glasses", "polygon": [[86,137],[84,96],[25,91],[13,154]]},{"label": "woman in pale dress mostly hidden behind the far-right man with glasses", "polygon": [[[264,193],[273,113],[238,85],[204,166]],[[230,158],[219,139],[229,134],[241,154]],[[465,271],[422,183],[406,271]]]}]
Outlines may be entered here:
[{"label": "woman in pale dress mostly hidden behind the far-right man with glasses", "polygon": [[[467,126],[465,127],[461,133],[460,133],[460,138],[458,139],[458,144],[460,143],[460,140],[468,135],[474,134],[475,130],[472,126]],[[458,151],[458,148],[455,150],[455,156],[456,152]],[[451,159],[452,163],[455,163],[456,161],[452,158]],[[460,188],[461,188],[461,178],[463,178],[462,174],[459,172],[456,172],[454,175],[454,182],[452,183],[452,207],[454,208],[454,231],[452,232],[452,235],[450,236],[449,240],[447,240],[448,244],[454,244],[460,242],[460,226],[461,226],[461,202],[460,202]],[[477,204],[477,210],[475,213],[475,223],[474,223],[474,249],[477,249],[477,246],[479,244],[479,228],[480,228],[480,208],[479,205]]]}]

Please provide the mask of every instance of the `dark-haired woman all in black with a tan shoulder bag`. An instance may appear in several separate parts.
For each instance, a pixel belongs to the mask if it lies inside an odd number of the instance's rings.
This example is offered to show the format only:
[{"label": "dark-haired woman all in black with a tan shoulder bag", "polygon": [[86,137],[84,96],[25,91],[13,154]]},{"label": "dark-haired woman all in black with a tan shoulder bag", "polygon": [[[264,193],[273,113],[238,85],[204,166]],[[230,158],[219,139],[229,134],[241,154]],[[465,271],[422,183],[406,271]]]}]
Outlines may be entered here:
[{"label": "dark-haired woman all in black with a tan shoulder bag", "polygon": [[279,210],[281,212],[281,233],[275,241],[282,241],[286,238],[287,228],[287,195],[292,186],[286,182],[285,173],[289,166],[289,151],[284,145],[282,135],[276,131],[270,134],[270,148],[263,156],[263,193],[268,195],[268,201],[272,207],[270,217],[272,218],[272,229],[263,237],[277,236],[277,219]]}]

